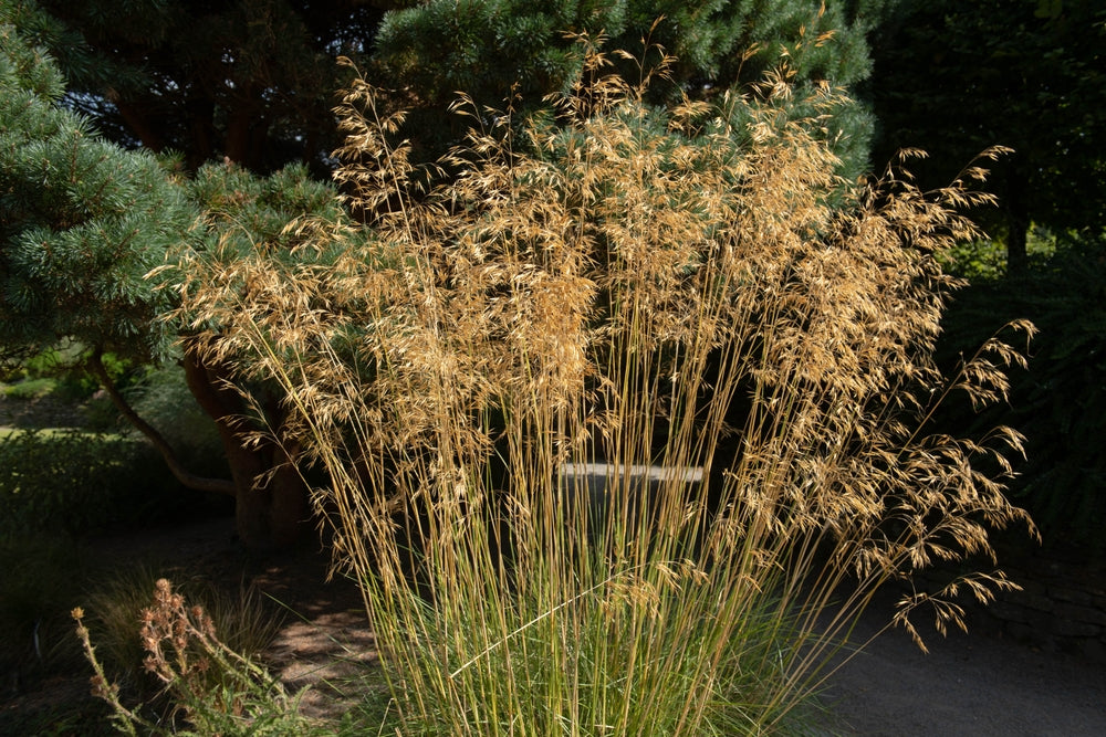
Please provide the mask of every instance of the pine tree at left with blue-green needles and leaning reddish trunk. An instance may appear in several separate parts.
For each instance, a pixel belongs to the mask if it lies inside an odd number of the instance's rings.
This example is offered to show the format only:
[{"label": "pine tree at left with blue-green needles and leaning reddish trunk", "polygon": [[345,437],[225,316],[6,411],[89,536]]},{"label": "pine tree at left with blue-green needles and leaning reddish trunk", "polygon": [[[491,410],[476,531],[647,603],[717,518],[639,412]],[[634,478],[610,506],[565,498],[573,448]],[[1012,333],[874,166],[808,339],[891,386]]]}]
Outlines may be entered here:
[{"label": "pine tree at left with blue-green needles and leaning reddish trunk", "polygon": [[[185,179],[147,151],[103,140],[88,120],[62,106],[56,64],[11,25],[0,25],[0,348],[15,359],[73,338],[124,417],[146,433],[185,485],[236,499],[238,533],[251,547],[295,540],[309,517],[306,487],[285,463],[278,439],[250,442],[264,424],[242,424],[249,407],[228,391],[227,366],[200,360],[189,326],[165,318],[170,284],[152,278],[187,253],[243,257],[254,239],[278,242],[296,214],[341,217],[332,188],[303,167],[259,178],[212,165]],[[229,223],[229,224],[228,224]],[[237,250],[231,248],[237,245]],[[291,248],[289,249],[291,250]],[[139,361],[173,357],[200,406],[216,421],[232,481],[181,467],[155,428],[115,389],[100,357]],[[264,398],[265,387],[251,387]]]}]

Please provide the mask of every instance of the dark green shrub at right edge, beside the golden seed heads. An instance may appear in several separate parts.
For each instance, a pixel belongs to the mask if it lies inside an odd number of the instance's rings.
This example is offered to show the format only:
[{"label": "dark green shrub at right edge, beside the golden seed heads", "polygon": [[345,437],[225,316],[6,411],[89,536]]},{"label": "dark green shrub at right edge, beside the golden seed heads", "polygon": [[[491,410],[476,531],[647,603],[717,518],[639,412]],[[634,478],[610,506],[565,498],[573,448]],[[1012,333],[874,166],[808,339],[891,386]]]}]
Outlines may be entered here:
[{"label": "dark green shrub at right edge, beside the golden seed heads", "polygon": [[997,323],[1016,316],[1037,326],[1029,370],[1011,376],[1010,404],[971,421],[1026,435],[1026,460],[1015,466],[1010,494],[1033,515],[1047,546],[1096,556],[1106,554],[1104,254],[1102,235],[1058,238],[1055,253],[1024,277],[962,292],[945,320],[943,341],[951,360]]}]

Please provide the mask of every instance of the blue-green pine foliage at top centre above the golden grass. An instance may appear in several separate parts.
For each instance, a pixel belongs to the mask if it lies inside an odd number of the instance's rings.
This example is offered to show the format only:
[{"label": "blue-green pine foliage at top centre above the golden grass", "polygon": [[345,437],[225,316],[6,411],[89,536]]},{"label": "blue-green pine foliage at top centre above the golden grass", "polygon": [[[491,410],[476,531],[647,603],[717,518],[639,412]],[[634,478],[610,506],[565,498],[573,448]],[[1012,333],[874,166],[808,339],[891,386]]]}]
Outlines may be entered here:
[{"label": "blue-green pine foliage at top centre above the golden grass", "polygon": [[[543,105],[550,93],[565,92],[583,63],[580,34],[605,38],[607,50],[634,61],[620,71],[636,82],[664,48],[677,61],[671,83],[655,81],[656,102],[682,94],[705,97],[739,86],[752,92],[765,71],[785,64],[803,98],[804,87],[828,83],[854,88],[870,71],[866,34],[881,17],[879,0],[431,0],[387,13],[376,39],[379,69],[367,74],[382,87],[398,90],[396,104],[410,109],[405,135],[425,149],[445,150],[463,133],[465,122],[444,110],[463,92],[478,107],[522,112]],[[795,110],[796,117],[808,110]],[[854,103],[834,110],[827,135],[845,159],[849,177],[867,168],[873,120]]]}]

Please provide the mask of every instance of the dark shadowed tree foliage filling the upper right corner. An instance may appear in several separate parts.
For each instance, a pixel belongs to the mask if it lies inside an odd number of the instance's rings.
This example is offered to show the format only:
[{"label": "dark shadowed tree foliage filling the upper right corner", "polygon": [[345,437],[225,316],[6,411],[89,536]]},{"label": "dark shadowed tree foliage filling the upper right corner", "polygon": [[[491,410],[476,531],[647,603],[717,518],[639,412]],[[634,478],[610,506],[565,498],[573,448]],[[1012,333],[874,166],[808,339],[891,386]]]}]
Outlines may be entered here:
[{"label": "dark shadowed tree foliage filling the upper right corner", "polygon": [[873,35],[866,86],[875,160],[928,150],[924,187],[948,181],[985,147],[1009,146],[975,213],[1024,273],[1031,227],[1106,223],[1106,8],[1096,0],[901,0]]}]

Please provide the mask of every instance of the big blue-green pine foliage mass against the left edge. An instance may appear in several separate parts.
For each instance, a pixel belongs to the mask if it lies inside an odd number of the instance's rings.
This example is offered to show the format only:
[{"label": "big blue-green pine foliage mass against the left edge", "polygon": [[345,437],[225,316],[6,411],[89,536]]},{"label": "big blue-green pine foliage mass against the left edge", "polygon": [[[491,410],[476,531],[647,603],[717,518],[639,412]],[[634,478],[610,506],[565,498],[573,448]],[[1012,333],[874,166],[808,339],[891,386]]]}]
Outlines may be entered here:
[{"label": "big blue-green pine foliage mass against the left edge", "polygon": [[0,344],[90,345],[152,357],[166,348],[163,295],[144,280],[198,211],[146,152],[100,139],[61,107],[58,67],[0,27]]}]

